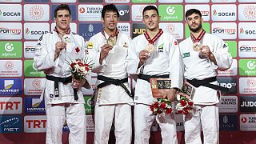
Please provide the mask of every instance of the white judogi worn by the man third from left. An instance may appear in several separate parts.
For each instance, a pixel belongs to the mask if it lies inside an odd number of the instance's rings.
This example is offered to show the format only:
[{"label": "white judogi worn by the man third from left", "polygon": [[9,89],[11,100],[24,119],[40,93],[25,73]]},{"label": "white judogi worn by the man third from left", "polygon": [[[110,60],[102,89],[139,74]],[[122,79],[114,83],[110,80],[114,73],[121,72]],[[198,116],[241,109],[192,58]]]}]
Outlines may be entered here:
[{"label": "white judogi worn by the man third from left", "polygon": [[[139,35],[132,41],[132,49],[128,53],[129,74],[170,74],[171,87],[182,87],[182,58],[179,51],[178,42],[174,36],[163,33],[156,42],[155,50],[151,53],[146,63],[138,68],[139,52],[146,48],[147,41],[144,34]],[[155,116],[150,111],[150,104],[153,102],[150,83],[138,79],[135,87],[134,98],[134,128],[135,144],[149,143],[150,127]],[[168,114],[166,117],[157,118],[157,122],[162,130],[162,143],[178,143],[176,138],[176,122],[174,115]]]}]

